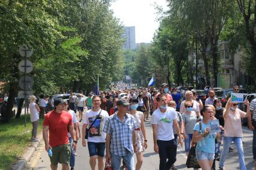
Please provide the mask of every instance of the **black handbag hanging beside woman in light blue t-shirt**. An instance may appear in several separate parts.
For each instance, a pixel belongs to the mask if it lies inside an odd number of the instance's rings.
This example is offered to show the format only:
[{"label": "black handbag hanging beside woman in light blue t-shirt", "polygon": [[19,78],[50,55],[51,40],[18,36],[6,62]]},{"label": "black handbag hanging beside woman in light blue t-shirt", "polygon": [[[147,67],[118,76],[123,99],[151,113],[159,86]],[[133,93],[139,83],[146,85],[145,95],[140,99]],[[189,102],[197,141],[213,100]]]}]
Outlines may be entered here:
[{"label": "black handbag hanging beside woman in light blue t-shirt", "polygon": [[[199,123],[200,125],[200,133],[202,131],[202,124],[201,122]],[[187,156],[187,168],[201,168],[199,163],[197,162],[197,157],[195,156],[195,150],[196,150],[197,144],[192,144],[190,150],[189,150],[189,155]]]}]

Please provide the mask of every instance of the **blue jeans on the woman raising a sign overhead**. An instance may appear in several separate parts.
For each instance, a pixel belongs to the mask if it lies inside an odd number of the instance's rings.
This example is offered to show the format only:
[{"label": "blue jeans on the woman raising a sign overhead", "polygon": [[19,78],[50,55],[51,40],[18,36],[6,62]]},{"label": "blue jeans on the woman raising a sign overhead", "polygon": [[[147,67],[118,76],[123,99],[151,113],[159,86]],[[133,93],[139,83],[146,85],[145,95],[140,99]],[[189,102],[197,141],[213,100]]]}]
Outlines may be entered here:
[{"label": "blue jeans on the woman raising a sign overhead", "polygon": [[221,160],[219,160],[219,167],[224,167],[224,162],[227,159],[228,156],[228,150],[230,149],[231,142],[234,142],[236,144],[237,153],[239,157],[239,165],[241,170],[246,170],[245,167],[245,155],[243,153],[243,142],[241,137],[228,137],[224,136],[224,145],[223,145],[223,151],[221,153]]}]

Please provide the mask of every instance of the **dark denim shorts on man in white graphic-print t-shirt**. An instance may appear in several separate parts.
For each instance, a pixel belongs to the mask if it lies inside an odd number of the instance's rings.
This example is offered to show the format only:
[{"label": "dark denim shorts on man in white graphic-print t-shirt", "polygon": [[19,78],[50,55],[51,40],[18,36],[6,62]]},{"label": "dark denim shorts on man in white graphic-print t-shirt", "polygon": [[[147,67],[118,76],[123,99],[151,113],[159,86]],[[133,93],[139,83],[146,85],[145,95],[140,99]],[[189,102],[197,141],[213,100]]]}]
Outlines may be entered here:
[{"label": "dark denim shorts on man in white graphic-print t-shirt", "polygon": [[105,154],[105,142],[88,142],[88,150],[91,156],[104,157]]}]

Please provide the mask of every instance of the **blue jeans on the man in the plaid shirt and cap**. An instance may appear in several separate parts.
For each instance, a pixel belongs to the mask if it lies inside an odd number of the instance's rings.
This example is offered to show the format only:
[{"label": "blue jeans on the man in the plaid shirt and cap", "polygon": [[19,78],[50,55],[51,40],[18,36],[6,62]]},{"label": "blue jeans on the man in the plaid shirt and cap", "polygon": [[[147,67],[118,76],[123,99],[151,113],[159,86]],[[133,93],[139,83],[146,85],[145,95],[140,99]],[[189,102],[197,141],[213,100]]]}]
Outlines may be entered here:
[{"label": "blue jeans on the man in the plaid shirt and cap", "polygon": [[135,164],[133,159],[133,153],[130,153],[130,151],[126,151],[125,156],[117,156],[115,154],[111,153],[111,165],[114,170],[120,169],[121,159],[123,158],[124,162],[126,163],[128,170],[135,170]]}]

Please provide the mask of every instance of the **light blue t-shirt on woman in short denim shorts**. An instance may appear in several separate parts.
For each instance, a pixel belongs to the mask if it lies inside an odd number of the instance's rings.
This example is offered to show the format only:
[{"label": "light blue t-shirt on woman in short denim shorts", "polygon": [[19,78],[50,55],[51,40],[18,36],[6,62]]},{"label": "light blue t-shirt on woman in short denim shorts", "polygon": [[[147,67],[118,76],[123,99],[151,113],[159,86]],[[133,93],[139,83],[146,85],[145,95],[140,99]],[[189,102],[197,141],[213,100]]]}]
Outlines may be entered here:
[{"label": "light blue t-shirt on woman in short denim shorts", "polygon": [[[204,133],[204,129],[206,129],[207,127],[209,127],[209,125],[202,123],[202,134]],[[200,125],[199,122],[197,124],[195,124],[195,128],[194,130],[196,131],[200,131]],[[215,153],[215,138],[216,138],[217,133],[209,133],[206,137],[204,137],[203,139],[201,139],[201,141],[199,141],[197,143],[197,150],[200,151],[204,151],[206,153]]]}]

